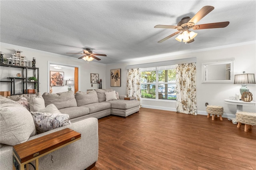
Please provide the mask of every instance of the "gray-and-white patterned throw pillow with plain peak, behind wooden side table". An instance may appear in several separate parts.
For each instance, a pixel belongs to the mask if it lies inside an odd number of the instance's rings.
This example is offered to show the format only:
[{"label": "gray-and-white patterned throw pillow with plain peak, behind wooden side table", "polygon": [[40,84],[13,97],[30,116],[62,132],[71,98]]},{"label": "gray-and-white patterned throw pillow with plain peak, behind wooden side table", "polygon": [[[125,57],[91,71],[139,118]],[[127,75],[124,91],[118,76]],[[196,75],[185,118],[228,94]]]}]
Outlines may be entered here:
[{"label": "gray-and-white patterned throw pillow with plain peak, behind wooden side table", "polygon": [[69,116],[60,113],[53,104],[46,106],[46,108],[38,112],[31,112],[31,115],[33,116],[38,134],[71,124]]}]

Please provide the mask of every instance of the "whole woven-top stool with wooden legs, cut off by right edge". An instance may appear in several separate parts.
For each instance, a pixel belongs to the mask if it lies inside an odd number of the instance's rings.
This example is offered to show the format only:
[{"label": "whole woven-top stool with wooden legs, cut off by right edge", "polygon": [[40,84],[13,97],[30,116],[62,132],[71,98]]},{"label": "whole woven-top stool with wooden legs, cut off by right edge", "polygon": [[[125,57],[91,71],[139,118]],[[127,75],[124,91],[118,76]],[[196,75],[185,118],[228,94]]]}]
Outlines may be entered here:
[{"label": "whole woven-top stool with wooden legs, cut off by right edge", "polygon": [[256,113],[251,112],[237,112],[236,121],[238,122],[237,127],[240,128],[241,124],[244,124],[244,131],[248,132],[252,125],[256,125]]}]

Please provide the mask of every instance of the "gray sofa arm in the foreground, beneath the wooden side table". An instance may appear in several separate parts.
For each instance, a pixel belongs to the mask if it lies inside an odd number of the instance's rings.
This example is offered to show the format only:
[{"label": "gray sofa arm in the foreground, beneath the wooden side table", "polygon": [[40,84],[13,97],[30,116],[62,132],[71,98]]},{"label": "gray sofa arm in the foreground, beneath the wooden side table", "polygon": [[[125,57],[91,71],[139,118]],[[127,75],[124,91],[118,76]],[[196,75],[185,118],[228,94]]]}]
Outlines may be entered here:
[{"label": "gray sofa arm in the foreground, beneath the wooden side table", "polygon": [[[39,169],[76,169],[84,170],[98,160],[98,119],[88,118],[64,127],[56,128],[36,136],[29,140],[70,128],[81,134],[81,139],[60,148],[51,154],[39,158]],[[51,160],[53,156],[53,163]],[[57,169],[56,169],[57,168]]]}]

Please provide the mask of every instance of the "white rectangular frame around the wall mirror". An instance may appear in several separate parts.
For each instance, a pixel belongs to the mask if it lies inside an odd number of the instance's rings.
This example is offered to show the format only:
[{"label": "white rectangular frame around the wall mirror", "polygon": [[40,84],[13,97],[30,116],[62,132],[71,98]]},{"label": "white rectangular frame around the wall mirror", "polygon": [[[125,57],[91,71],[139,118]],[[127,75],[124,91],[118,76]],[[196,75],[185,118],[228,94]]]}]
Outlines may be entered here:
[{"label": "white rectangular frame around the wall mirror", "polygon": [[[234,71],[233,71],[233,63],[234,61],[216,61],[209,63],[202,63],[202,83],[234,83]],[[205,80],[205,66],[206,65],[220,65],[220,64],[230,64],[230,80]]]}]

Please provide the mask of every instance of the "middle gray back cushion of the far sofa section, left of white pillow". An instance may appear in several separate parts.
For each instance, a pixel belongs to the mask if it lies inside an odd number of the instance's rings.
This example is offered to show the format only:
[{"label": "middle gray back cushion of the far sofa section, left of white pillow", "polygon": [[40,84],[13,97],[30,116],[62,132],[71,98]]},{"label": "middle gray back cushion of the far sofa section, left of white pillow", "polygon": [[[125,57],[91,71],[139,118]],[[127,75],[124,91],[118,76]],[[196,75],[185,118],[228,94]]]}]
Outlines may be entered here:
[{"label": "middle gray back cushion of the far sofa section, left of white pillow", "polygon": [[98,95],[95,90],[89,90],[87,93],[78,91],[75,94],[77,106],[88,105],[91,103],[98,103]]}]

